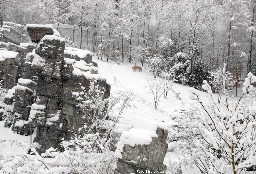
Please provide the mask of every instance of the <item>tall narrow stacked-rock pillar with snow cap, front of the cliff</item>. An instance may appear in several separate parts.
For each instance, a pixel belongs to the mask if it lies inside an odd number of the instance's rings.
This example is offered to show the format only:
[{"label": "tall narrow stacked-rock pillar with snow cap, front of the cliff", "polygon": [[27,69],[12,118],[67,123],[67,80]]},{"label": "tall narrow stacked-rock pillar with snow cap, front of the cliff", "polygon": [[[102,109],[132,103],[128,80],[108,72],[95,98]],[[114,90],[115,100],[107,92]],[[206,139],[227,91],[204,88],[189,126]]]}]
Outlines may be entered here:
[{"label": "tall narrow stacked-rock pillar with snow cap, front of the cliff", "polygon": [[62,127],[62,64],[65,39],[45,35],[37,44],[32,67],[39,70],[36,102],[32,104],[30,121],[37,126],[34,142],[40,153],[50,147],[60,148]]}]

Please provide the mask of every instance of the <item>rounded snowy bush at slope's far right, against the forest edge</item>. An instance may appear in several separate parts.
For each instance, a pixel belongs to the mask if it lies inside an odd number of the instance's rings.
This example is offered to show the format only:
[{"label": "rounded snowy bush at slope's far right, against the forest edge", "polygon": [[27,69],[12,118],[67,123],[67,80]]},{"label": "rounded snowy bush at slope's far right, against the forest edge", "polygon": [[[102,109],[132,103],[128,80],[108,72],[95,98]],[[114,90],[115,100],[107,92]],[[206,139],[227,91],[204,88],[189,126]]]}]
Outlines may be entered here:
[{"label": "rounded snowy bush at slope's far right, against the forest edge", "polygon": [[224,90],[229,91],[236,85],[235,77],[230,71],[225,70],[225,64],[224,68],[218,68],[214,71],[210,71],[208,78],[210,79],[209,84],[212,86],[213,92],[217,92],[219,94],[218,103],[221,102]]}]

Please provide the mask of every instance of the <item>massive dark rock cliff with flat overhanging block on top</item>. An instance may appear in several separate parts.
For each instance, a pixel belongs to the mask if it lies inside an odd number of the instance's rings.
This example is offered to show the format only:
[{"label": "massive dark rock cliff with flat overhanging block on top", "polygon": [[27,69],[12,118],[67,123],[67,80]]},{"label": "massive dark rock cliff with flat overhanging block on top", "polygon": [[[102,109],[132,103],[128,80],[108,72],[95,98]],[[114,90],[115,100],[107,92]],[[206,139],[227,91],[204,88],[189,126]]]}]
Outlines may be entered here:
[{"label": "massive dark rock cliff with flat overhanging block on top", "polygon": [[98,75],[90,51],[65,48],[65,39],[52,26],[26,27],[36,46],[1,42],[0,78],[10,88],[6,104],[14,102],[8,126],[21,135],[30,135],[31,128],[37,127],[34,143],[41,154],[50,147],[61,150],[63,138],[70,139],[89,123],[77,98],[89,90],[92,80],[105,90],[105,98],[110,95],[110,85]]}]

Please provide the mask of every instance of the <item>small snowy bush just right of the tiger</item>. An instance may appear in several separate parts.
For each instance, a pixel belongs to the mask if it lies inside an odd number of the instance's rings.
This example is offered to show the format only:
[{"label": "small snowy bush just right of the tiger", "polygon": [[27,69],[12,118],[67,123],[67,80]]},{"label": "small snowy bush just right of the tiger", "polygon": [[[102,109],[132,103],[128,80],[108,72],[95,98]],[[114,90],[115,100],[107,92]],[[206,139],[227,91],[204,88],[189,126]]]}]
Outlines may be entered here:
[{"label": "small snowy bush just right of the tiger", "polygon": [[165,64],[165,59],[162,55],[156,54],[147,59],[147,65],[149,66],[149,71],[153,73],[154,78],[156,78],[161,72],[161,68]]}]

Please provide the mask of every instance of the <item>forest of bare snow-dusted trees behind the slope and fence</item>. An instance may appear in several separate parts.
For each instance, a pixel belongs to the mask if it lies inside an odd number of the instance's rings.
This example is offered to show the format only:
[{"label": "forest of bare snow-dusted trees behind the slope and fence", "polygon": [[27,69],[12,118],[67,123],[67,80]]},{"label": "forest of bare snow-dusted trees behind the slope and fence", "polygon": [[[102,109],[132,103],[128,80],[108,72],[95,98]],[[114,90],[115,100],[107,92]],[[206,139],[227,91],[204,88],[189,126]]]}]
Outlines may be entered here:
[{"label": "forest of bare snow-dusted trees behind the slope and fence", "polygon": [[[256,67],[255,4],[255,0],[0,0],[0,22],[91,27],[93,54],[131,62],[130,53],[138,49],[134,45],[165,59],[183,52],[189,56],[190,73],[197,56],[207,70],[225,62],[241,80]],[[96,40],[101,40],[100,47]],[[145,51],[139,60],[142,66]]]}]

